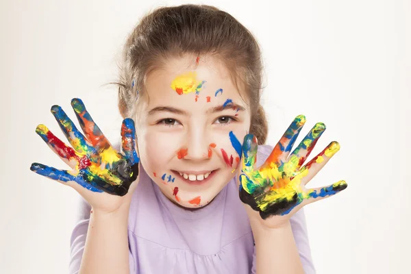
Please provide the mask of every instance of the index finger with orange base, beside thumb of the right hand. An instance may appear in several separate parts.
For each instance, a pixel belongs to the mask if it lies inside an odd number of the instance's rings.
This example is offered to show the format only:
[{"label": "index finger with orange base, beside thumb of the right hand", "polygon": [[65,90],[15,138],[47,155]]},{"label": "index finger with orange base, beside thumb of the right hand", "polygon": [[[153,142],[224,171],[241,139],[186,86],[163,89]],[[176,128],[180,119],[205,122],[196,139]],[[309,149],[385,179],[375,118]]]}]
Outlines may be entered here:
[{"label": "index finger with orange base, beside thumb of the right hand", "polygon": [[279,139],[279,142],[275,145],[273,151],[269,155],[269,158],[266,159],[263,167],[273,167],[274,165],[280,166],[282,162],[286,161],[292,146],[294,145],[295,140],[297,140],[297,137],[299,136],[299,133],[305,123],[306,116],[303,114],[295,117],[286,132],[284,132],[282,138]]}]

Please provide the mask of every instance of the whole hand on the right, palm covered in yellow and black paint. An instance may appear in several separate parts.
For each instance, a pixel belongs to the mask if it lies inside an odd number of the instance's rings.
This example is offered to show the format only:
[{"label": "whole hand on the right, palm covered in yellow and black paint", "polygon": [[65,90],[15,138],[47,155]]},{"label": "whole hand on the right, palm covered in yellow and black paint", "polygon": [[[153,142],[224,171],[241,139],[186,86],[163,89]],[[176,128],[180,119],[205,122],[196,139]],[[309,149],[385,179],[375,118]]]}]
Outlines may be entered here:
[{"label": "whole hand on the right, palm covered in yellow and black paint", "polygon": [[[321,188],[306,188],[305,185],[340,149],[338,142],[331,142],[319,155],[305,166],[302,164],[325,131],[323,123],[316,123],[299,146],[290,153],[306,117],[299,115],[292,121],[269,158],[255,168],[257,140],[247,134],[242,145],[242,171],[240,174],[240,199],[253,210],[260,212],[262,219],[272,215],[286,215],[307,203],[334,195],[347,188],[345,181]],[[288,157],[289,156],[289,157]]]}]

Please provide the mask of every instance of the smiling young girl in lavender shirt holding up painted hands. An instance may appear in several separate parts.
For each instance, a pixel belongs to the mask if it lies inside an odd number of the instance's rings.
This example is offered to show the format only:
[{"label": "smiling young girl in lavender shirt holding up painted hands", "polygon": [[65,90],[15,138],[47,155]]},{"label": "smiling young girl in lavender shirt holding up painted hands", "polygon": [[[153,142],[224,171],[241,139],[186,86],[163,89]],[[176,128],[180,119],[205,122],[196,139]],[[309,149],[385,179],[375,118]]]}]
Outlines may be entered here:
[{"label": "smiling young girl in lavender shirt holding up painted hands", "polygon": [[158,8],[123,53],[121,144],[110,145],[80,99],[72,106],[84,135],[51,108],[73,148],[36,129],[72,170],[32,171],[84,198],[70,273],[315,273],[302,207],[347,184],[305,185],[339,145],[303,166],[325,130],[317,123],[291,152],[303,115],[275,147],[262,145],[262,60],[251,33],[207,5]]}]

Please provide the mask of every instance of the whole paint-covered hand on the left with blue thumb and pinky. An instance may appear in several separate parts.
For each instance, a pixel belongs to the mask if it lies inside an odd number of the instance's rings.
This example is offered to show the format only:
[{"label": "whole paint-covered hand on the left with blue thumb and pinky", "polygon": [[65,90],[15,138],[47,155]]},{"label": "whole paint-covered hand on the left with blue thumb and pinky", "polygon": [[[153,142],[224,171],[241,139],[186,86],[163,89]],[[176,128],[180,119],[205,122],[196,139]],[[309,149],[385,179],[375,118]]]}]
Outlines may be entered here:
[{"label": "whole paint-covered hand on the left with blue thumb and pinky", "polygon": [[132,119],[125,119],[121,127],[121,152],[116,151],[92,121],[84,103],[72,99],[71,105],[85,136],[58,105],[51,107],[69,147],[55,137],[45,125],[36,132],[71,171],[58,170],[33,163],[30,169],[40,175],[71,186],[79,192],[95,211],[110,213],[128,210],[132,194],[138,184],[140,159],[136,153],[136,129]]}]

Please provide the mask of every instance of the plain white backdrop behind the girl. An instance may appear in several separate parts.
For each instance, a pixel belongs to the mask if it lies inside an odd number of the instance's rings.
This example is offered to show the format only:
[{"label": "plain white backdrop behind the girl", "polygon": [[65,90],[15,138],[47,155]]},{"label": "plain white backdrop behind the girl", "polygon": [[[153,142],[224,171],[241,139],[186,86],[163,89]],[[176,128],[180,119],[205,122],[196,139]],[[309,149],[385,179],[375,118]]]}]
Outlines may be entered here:
[{"label": "plain white backdrop behind the girl", "polygon": [[[139,18],[185,1],[0,2],[0,273],[66,273],[79,195],[29,170],[65,169],[35,133],[64,139],[50,113],[81,98],[110,140],[120,136],[116,58]],[[191,1],[216,5],[256,36],[275,145],[298,114],[327,125],[310,160],[341,149],[308,186],[345,179],[306,206],[317,273],[406,273],[411,255],[411,1]]]}]

